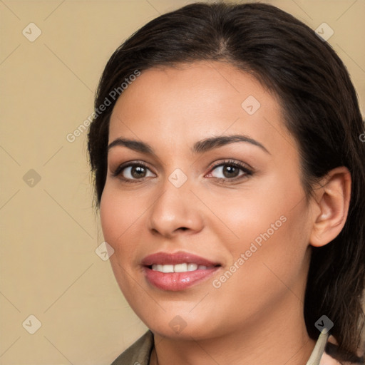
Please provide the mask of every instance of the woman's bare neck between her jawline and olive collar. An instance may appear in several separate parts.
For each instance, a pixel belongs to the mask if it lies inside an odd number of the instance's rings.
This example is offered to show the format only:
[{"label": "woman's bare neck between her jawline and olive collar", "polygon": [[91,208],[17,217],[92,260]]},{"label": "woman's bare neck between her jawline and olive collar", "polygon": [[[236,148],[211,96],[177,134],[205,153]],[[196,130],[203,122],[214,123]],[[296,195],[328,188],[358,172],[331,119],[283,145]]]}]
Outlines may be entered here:
[{"label": "woman's bare neck between her jawline and olive collar", "polygon": [[[170,338],[155,333],[150,365],[235,364],[305,365],[314,349],[305,327],[302,303],[289,294],[286,308],[266,311],[235,331],[208,339],[195,340],[180,334]],[[294,303],[293,305],[293,302]],[[300,305],[299,305],[300,304]]]}]

